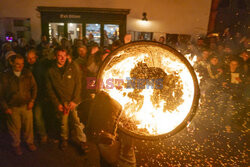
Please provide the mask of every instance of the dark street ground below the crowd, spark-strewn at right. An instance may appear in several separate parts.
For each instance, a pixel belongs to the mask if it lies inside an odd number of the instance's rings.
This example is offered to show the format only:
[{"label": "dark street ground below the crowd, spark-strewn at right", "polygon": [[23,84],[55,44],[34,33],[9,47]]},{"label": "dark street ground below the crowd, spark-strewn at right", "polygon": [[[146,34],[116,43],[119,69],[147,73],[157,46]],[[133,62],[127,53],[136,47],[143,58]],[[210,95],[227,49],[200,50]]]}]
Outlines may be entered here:
[{"label": "dark street ground below the crowd, spark-strewn at right", "polygon": [[[134,139],[138,167],[167,166],[249,166],[249,106],[219,105],[201,101],[192,122],[179,133],[155,141]],[[89,143],[90,152],[82,155],[70,144],[65,151],[57,140],[39,145],[37,151],[16,156],[0,115],[0,167],[84,167],[98,166],[99,153]]]}]

